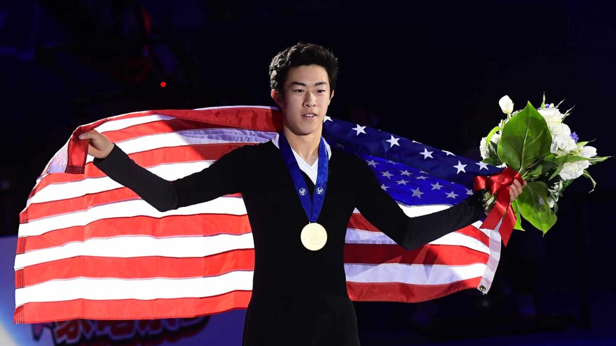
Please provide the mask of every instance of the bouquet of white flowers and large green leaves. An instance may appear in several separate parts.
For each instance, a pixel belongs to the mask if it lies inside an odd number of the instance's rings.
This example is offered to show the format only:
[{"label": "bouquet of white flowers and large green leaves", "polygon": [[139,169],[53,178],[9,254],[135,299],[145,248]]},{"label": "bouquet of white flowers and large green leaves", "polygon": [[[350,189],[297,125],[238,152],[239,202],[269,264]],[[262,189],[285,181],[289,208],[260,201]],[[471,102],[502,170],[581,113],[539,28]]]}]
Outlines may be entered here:
[{"label": "bouquet of white flowers and large green leaves", "polygon": [[596,182],[587,168],[612,157],[597,156],[596,149],[587,145],[593,141],[578,140],[562,122],[572,109],[561,113],[561,103],[546,104],[544,94],[540,108],[528,102],[523,110],[513,111],[513,101],[505,95],[498,104],[507,118],[480,142],[482,162],[511,167],[528,183],[511,203],[516,230],[524,230],[522,215],[545,235],[556,223],[557,201],[564,189],[583,175],[591,180],[594,190]]}]

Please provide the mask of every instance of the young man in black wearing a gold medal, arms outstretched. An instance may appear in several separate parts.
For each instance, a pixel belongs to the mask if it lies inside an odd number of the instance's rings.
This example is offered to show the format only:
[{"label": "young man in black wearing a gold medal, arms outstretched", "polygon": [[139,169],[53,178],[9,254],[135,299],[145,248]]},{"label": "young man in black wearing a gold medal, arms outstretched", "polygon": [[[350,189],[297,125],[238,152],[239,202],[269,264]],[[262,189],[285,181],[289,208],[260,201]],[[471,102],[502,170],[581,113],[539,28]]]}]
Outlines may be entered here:
[{"label": "young man in black wearing a gold medal, arms outstretched", "polygon": [[[489,208],[476,191],[444,211],[407,217],[363,159],[322,139],[337,76],[338,62],[323,47],[296,44],[278,53],[270,86],[282,133],[175,181],[138,166],[99,132],[79,136],[90,140],[95,166],[159,211],[242,194],[255,255],[244,345],[359,345],[342,258],[355,207],[407,250],[466,227]],[[521,190],[516,181],[510,200]]]}]

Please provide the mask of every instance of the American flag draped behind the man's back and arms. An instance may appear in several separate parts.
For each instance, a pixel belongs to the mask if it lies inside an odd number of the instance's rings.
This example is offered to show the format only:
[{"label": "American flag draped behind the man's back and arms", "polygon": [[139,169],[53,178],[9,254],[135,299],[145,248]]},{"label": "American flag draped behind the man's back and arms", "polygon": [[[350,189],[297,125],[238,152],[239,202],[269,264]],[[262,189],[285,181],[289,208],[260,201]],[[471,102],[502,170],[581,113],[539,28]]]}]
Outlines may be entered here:
[{"label": "American flag draped behind the man's back and arms", "polygon": [[[159,212],[92,164],[96,129],[137,164],[175,180],[282,131],[277,108],[129,113],[79,126],[36,180],[20,213],[15,323],[192,317],[246,308],[253,238],[241,195]],[[389,132],[327,117],[323,137],[365,159],[413,217],[460,203],[475,175],[503,170]],[[490,289],[501,238],[482,220],[405,251],[355,210],[344,266],[352,300],[419,302]],[[499,224],[500,226],[500,224]]]}]

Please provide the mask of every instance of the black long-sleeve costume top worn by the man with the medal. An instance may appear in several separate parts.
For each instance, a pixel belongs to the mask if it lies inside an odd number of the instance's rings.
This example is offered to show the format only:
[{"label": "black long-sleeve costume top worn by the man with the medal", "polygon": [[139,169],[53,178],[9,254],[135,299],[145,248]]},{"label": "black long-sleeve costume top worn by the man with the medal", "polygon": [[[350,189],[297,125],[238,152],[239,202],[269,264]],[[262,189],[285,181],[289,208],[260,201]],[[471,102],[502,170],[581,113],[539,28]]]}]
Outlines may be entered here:
[{"label": "black long-sleeve costume top worn by the man with the medal", "polygon": [[[443,211],[408,217],[381,189],[363,159],[331,150],[327,190],[317,220],[327,230],[327,242],[318,251],[302,246],[299,235],[309,220],[280,150],[271,141],[232,150],[203,171],[174,181],[140,167],[117,145],[107,158],[94,159],[94,165],[159,211],[241,193],[255,255],[245,345],[299,345],[317,337],[322,337],[314,341],[320,345],[358,345],[343,264],[347,223],[355,207],[407,250],[466,227],[485,214],[476,192]],[[314,183],[302,174],[312,196]],[[275,338],[282,339],[274,342]]]}]

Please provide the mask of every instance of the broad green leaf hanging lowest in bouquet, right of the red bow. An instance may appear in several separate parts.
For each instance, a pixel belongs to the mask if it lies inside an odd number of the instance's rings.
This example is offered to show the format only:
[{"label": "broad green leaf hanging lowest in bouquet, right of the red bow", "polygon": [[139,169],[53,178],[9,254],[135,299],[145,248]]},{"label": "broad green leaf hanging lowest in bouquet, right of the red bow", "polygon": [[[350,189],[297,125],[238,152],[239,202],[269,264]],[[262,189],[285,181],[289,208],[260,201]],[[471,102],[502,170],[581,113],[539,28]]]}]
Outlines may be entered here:
[{"label": "broad green leaf hanging lowest in bouquet, right of the red bow", "polygon": [[[544,201],[543,205],[539,203],[540,196]],[[544,182],[529,182],[517,198],[517,205],[524,219],[545,235],[556,223],[556,214],[548,206],[548,185]]]}]

